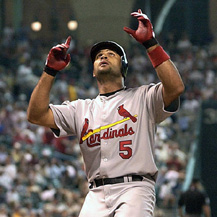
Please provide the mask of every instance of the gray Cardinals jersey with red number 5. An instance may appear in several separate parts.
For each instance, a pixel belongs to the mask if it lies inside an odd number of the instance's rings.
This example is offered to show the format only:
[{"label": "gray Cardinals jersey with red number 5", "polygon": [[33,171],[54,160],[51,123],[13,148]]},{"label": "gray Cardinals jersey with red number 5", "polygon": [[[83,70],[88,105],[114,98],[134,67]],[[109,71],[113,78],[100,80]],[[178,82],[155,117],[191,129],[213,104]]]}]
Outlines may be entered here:
[{"label": "gray Cardinals jersey with red number 5", "polygon": [[156,177],[156,125],[174,113],[164,110],[161,83],[50,108],[58,136],[77,135],[89,182],[127,174]]}]

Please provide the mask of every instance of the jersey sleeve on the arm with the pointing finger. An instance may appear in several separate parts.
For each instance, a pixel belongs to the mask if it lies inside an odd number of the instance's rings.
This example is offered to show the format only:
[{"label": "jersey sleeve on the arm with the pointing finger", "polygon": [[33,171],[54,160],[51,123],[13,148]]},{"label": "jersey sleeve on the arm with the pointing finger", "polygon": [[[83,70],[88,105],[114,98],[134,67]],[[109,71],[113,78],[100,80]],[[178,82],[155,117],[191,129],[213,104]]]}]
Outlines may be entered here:
[{"label": "jersey sleeve on the arm with the pointing finger", "polygon": [[69,101],[62,105],[50,104],[50,109],[54,115],[54,121],[59,130],[53,130],[56,137],[75,135],[75,104]]}]

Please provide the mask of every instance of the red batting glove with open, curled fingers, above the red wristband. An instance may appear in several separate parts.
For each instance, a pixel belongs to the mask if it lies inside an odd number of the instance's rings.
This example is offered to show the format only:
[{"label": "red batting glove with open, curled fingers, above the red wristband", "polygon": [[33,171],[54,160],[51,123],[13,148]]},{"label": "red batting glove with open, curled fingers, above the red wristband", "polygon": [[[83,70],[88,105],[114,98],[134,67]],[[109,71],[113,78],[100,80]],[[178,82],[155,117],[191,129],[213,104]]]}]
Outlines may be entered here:
[{"label": "red batting glove with open, curled fingers, above the red wristband", "polygon": [[139,25],[137,30],[124,27],[124,31],[130,34],[135,38],[139,43],[143,44],[146,49],[156,45],[158,42],[155,39],[155,34],[153,31],[153,26],[147,15],[142,13],[142,10],[139,9],[138,12],[131,13],[131,16],[138,19]]}]

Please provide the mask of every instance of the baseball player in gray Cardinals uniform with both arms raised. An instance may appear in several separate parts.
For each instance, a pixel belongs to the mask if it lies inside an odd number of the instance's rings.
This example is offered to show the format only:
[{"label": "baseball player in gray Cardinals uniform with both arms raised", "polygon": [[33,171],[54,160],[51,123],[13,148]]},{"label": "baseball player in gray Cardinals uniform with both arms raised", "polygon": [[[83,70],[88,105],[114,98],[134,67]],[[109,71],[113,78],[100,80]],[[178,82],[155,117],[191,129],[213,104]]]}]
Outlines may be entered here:
[{"label": "baseball player in gray Cardinals uniform with both arms raised", "polygon": [[141,10],[131,15],[138,19],[138,28],[124,31],[147,50],[161,82],[126,88],[124,49],[113,41],[99,42],[90,51],[99,95],[49,104],[55,75],[70,61],[68,37],[50,50],[29,102],[30,122],[50,127],[57,137],[78,137],[90,188],[80,217],[153,216],[156,125],[177,111],[184,85],[148,17]]}]

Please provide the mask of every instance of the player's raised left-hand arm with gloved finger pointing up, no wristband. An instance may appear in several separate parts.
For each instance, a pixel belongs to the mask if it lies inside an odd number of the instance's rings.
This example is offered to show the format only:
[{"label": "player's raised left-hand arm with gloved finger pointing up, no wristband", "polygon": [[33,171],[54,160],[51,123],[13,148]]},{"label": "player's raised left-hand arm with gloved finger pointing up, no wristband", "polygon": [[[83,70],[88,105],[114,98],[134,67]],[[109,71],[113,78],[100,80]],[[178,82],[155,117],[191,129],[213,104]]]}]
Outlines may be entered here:
[{"label": "player's raised left-hand arm with gloved finger pointing up, no wristband", "polygon": [[49,108],[50,91],[58,71],[70,62],[70,55],[67,54],[70,42],[71,37],[68,37],[65,43],[53,47],[47,56],[43,74],[32,92],[27,110],[28,121],[33,124],[57,129]]}]

